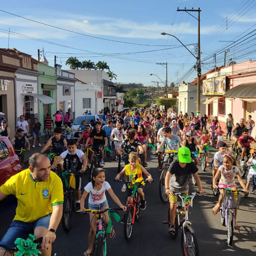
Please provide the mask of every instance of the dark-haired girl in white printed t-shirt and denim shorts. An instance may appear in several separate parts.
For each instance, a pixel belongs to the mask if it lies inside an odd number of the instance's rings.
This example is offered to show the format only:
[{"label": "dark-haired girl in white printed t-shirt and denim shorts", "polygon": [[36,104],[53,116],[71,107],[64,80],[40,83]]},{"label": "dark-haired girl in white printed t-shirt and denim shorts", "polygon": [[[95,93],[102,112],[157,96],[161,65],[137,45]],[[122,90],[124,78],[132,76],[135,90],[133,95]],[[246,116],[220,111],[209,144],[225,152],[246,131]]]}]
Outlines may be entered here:
[{"label": "dark-haired girl in white printed t-shirt and denim shorts", "polygon": [[[126,206],[122,205],[118,197],[115,195],[114,191],[112,190],[109,182],[105,181],[105,170],[103,168],[95,168],[92,173],[92,181],[89,182],[84,187],[84,192],[82,194],[82,197],[80,199],[80,210],[84,210],[84,200],[86,200],[88,194],[89,194],[89,201],[88,206],[89,209],[94,210],[105,210],[109,208],[108,200],[106,200],[105,191],[108,191],[112,199],[115,201],[115,203],[123,209],[123,211],[126,211]],[[109,223],[109,214],[108,212],[104,212],[104,218],[105,224],[108,225]],[[93,250],[93,244],[94,244],[94,236],[96,233],[97,228],[97,218],[94,218],[95,215],[90,212],[90,223],[91,228],[89,232],[89,245],[88,249],[83,253],[83,255],[90,255],[90,253]],[[113,239],[115,237],[115,231],[112,228],[110,233],[110,238]]]}]

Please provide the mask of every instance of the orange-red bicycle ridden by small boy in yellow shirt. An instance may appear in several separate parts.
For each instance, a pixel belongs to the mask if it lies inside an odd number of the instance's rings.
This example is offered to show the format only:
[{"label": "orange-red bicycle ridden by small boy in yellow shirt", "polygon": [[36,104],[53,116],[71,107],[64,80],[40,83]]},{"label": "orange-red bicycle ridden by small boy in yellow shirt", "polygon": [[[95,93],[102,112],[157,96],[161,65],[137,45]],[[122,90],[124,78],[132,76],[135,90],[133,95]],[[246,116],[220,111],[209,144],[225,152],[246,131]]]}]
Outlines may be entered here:
[{"label": "orange-red bicycle ridden by small boy in yellow shirt", "polygon": [[130,199],[129,205],[127,205],[127,210],[124,216],[124,238],[127,241],[131,240],[132,232],[133,232],[133,225],[135,221],[139,220],[139,213],[140,213],[140,196],[138,194],[139,185],[144,182],[147,183],[147,180],[141,180],[140,182],[126,182],[123,179],[115,180],[115,181],[122,181],[126,184],[127,187],[131,187],[133,185],[133,191]]}]

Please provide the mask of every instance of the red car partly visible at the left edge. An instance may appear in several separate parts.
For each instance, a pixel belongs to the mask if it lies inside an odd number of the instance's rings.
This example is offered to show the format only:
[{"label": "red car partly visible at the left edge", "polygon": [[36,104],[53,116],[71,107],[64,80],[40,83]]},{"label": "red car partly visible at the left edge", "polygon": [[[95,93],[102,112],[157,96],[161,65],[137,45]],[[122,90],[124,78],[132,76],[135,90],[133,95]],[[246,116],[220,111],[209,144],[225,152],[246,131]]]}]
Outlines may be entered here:
[{"label": "red car partly visible at the left edge", "polygon": [[7,137],[0,136],[0,186],[22,170],[20,160]]}]

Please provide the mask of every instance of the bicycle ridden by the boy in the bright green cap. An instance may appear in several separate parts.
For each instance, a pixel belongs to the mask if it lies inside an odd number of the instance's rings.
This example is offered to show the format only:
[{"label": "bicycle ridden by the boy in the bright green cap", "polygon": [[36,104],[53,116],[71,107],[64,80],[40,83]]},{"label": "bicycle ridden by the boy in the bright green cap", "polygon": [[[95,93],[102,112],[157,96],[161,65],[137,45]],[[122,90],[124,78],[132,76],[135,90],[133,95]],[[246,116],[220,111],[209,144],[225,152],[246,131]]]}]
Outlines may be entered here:
[{"label": "bicycle ridden by the boy in the bright green cap", "polygon": [[[171,234],[173,239],[178,236],[178,230],[182,229],[181,234],[181,247],[183,255],[199,255],[199,246],[196,237],[196,233],[192,228],[192,222],[188,220],[188,208],[193,207],[193,199],[196,196],[200,196],[198,193],[192,193],[190,196],[182,196],[181,193],[174,193],[179,196],[181,202],[177,202],[176,216],[175,216],[175,233]],[[182,210],[182,208],[184,210]],[[183,217],[181,220],[180,217]],[[163,221],[163,224],[168,224],[170,227],[169,210],[168,210],[168,221]]]}]

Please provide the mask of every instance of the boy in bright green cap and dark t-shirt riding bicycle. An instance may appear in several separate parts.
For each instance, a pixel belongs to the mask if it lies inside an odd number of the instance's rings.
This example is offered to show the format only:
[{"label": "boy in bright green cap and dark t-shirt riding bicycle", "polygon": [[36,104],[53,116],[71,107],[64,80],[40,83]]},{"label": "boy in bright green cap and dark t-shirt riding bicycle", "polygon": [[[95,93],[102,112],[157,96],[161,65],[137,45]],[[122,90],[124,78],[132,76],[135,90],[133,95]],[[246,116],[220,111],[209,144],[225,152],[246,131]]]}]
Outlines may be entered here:
[{"label": "boy in bright green cap and dark t-shirt riding bicycle", "polygon": [[200,177],[198,175],[198,167],[191,162],[190,150],[183,146],[179,148],[178,159],[175,159],[169,166],[168,172],[165,176],[165,191],[169,196],[170,202],[170,227],[169,233],[175,232],[175,213],[177,207],[178,196],[175,193],[182,193],[188,195],[188,186],[191,174],[195,177],[199,193],[204,194],[201,185]]}]

